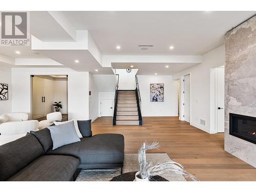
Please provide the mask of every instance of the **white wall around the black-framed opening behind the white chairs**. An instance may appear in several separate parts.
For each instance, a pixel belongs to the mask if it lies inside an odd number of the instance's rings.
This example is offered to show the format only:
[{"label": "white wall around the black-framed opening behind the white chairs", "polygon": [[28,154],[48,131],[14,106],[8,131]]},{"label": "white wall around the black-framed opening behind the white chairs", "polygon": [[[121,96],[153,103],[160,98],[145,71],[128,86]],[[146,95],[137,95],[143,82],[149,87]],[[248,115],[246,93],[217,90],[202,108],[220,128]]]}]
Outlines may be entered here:
[{"label": "white wall around the black-framed opening behind the white chairs", "polygon": [[68,75],[69,119],[89,119],[89,73],[69,68],[13,68],[12,112],[31,115],[30,75]]}]

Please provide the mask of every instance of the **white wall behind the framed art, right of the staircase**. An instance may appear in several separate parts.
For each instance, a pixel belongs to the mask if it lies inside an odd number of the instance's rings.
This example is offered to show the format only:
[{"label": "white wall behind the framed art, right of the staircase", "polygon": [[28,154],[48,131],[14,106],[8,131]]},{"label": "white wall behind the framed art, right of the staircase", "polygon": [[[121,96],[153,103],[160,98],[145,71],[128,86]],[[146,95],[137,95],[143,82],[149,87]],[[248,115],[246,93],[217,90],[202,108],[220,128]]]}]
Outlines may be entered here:
[{"label": "white wall behind the framed art, right of the staircase", "polygon": [[[171,75],[138,75],[141,115],[178,116],[178,83]],[[164,83],[164,102],[150,101],[150,83]]]}]

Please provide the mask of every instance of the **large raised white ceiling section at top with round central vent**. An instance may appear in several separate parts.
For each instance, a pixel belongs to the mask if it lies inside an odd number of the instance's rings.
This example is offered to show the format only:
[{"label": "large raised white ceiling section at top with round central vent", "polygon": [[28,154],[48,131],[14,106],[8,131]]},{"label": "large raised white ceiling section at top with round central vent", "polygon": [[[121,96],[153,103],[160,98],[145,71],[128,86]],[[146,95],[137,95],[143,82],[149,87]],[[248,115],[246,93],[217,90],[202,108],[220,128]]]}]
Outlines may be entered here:
[{"label": "large raised white ceiling section at top with round central vent", "polygon": [[[255,11],[65,11],[77,30],[89,30],[103,54],[202,55]],[[116,46],[121,46],[120,50]],[[146,51],[138,45],[154,45]],[[169,50],[173,45],[174,50]]]}]

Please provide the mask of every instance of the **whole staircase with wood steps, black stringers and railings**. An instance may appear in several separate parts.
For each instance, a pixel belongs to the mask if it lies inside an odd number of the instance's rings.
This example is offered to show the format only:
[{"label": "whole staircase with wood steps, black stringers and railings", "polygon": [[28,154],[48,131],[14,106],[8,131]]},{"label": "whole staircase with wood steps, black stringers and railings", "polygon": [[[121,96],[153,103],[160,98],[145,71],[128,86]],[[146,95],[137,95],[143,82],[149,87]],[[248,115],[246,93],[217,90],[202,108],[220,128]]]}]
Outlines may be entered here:
[{"label": "whole staircase with wood steps, black stringers and railings", "polygon": [[135,90],[118,90],[119,75],[116,74],[116,77],[113,125],[142,125],[141,98],[137,76],[135,76]]}]

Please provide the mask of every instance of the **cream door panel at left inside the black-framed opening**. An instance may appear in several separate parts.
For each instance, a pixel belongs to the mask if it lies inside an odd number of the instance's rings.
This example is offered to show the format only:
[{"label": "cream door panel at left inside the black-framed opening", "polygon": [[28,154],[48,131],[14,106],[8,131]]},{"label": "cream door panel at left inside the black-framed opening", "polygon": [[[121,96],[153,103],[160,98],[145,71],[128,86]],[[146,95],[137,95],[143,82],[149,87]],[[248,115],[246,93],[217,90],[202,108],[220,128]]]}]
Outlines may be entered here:
[{"label": "cream door panel at left inside the black-framed opening", "polygon": [[39,77],[32,77],[32,100],[33,100],[33,114],[32,118],[40,118],[45,115],[45,80]]}]

